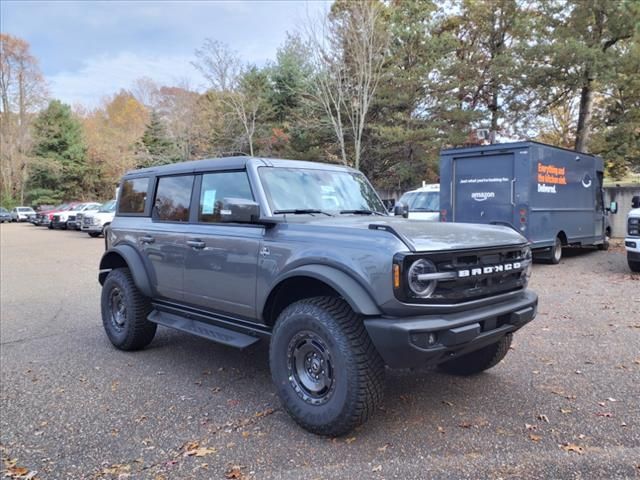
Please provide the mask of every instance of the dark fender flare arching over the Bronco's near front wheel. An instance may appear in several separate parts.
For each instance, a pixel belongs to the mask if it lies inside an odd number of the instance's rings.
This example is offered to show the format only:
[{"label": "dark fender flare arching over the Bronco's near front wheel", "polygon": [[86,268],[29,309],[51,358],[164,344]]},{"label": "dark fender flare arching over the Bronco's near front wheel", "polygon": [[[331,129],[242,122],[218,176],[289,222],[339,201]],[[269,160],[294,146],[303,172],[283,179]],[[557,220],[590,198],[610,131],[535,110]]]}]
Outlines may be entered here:
[{"label": "dark fender flare arching over the Bronco's near front wheel", "polygon": [[[356,313],[362,315],[382,314],[369,292],[352,276],[337,268],[318,264],[301,265],[278,277],[277,281],[274,282],[274,289],[280,283],[292,277],[311,277],[326,283],[338,292]],[[273,289],[271,291],[273,292]],[[265,298],[260,310],[264,309],[270,295]]]}]

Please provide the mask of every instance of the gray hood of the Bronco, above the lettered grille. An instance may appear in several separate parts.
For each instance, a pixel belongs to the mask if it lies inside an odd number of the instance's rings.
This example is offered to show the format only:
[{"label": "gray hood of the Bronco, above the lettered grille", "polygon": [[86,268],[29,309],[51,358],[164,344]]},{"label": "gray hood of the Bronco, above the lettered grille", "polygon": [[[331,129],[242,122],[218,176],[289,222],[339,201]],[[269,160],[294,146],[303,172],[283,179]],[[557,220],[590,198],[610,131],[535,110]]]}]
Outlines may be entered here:
[{"label": "gray hood of the Bronco, above the lettered grille", "polygon": [[[300,219],[300,220],[298,220]],[[429,222],[401,217],[350,216],[340,217],[287,217],[289,223],[307,223],[314,226],[342,227],[345,229],[386,230],[396,235],[416,252],[434,250],[464,250],[471,248],[521,245],[527,239],[509,227],[471,223]],[[395,232],[395,233],[394,233]]]}]

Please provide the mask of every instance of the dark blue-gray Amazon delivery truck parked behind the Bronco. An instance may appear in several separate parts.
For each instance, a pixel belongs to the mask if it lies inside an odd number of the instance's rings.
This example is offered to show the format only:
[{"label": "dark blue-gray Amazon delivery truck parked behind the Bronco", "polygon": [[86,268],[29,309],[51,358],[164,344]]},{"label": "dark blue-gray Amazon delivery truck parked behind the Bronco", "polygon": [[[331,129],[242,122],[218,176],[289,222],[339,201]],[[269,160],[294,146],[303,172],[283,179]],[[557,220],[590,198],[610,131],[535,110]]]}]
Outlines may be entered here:
[{"label": "dark blue-gray Amazon delivery truck parked behind the Bronco", "polygon": [[440,213],[446,222],[509,226],[537,258],[558,263],[563,246],[608,248],[600,157],[538,142],[440,152]]}]

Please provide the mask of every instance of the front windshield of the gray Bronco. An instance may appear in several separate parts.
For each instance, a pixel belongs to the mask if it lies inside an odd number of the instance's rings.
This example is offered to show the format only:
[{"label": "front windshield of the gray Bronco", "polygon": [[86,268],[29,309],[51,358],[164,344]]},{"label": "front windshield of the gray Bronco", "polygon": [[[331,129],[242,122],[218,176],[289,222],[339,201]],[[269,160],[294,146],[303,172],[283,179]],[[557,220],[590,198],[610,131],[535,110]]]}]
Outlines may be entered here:
[{"label": "front windshield of the gray Bronco", "polygon": [[261,167],[258,172],[274,212],[386,212],[375,190],[361,173],[281,167]]}]

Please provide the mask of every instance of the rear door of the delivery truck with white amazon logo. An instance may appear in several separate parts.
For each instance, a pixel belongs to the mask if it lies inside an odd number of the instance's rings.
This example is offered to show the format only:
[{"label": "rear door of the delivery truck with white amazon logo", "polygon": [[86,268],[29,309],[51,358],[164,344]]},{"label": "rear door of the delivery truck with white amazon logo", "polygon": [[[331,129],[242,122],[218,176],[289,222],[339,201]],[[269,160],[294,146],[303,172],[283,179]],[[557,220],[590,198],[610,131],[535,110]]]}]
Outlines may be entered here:
[{"label": "rear door of the delivery truck with white amazon logo", "polygon": [[513,153],[453,159],[453,221],[513,224]]}]

